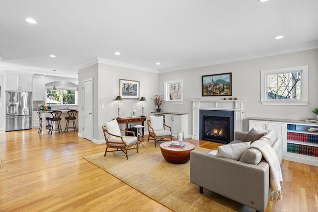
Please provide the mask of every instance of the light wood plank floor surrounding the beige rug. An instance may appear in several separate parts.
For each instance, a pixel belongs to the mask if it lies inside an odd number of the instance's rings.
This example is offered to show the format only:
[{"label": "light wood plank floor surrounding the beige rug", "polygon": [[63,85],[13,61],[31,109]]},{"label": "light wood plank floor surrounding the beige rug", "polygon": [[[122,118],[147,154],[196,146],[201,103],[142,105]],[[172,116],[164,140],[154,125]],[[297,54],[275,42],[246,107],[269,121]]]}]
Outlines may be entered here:
[{"label": "light wood plank floor surrounding the beige rug", "polygon": [[[188,141],[210,149],[220,145]],[[0,131],[0,211],[170,211],[83,159],[104,150],[105,144],[75,132]],[[317,212],[318,167],[283,160],[282,172],[283,200],[269,201],[266,211]]]}]

